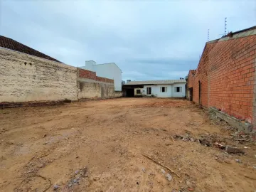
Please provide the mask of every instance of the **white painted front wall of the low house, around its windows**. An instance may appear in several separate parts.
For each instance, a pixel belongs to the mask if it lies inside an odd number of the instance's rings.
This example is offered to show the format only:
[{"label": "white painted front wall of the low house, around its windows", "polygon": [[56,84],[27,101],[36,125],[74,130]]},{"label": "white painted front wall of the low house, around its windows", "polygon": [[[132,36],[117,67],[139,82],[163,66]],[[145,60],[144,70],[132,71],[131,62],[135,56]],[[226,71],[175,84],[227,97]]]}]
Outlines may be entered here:
[{"label": "white painted front wall of the low house, around its windows", "polygon": [[[174,83],[173,85],[144,85],[142,95],[156,97],[185,97],[186,83]],[[151,95],[146,95],[147,87],[151,87]],[[166,92],[161,92],[161,87],[167,87]],[[176,92],[174,87],[181,87],[181,92]]]}]

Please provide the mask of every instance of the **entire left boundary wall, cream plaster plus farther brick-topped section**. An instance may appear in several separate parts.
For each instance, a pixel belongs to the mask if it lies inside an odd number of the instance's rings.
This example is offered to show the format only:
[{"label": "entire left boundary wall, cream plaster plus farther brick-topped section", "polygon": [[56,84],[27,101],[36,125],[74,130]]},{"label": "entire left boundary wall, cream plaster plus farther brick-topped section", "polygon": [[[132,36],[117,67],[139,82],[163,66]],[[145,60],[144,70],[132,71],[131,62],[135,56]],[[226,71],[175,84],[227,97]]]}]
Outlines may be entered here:
[{"label": "entire left boundary wall, cream plaster plus farther brick-topped section", "polygon": [[114,80],[89,70],[0,48],[0,102],[120,97]]}]

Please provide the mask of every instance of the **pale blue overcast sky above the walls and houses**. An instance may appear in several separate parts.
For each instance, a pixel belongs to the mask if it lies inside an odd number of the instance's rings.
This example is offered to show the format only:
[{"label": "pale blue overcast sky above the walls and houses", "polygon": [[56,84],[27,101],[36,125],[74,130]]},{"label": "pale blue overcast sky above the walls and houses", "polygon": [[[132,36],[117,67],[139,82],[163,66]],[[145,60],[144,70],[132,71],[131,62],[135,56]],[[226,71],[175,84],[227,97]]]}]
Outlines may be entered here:
[{"label": "pale blue overcast sky above the walls and houses", "polygon": [[124,80],[177,79],[207,41],[255,26],[256,1],[0,0],[0,35],[75,67],[116,63]]}]

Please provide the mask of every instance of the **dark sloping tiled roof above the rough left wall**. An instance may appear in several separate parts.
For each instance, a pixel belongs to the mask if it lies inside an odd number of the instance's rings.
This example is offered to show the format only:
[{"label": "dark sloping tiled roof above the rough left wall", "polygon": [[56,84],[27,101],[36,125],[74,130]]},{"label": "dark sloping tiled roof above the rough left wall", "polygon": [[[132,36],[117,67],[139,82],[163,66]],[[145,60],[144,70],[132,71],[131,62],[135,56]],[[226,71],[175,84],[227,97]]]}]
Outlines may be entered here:
[{"label": "dark sloping tiled roof above the rough left wall", "polygon": [[43,53],[39,52],[38,50],[35,50],[28,46],[25,46],[22,43],[19,43],[18,41],[14,41],[11,38],[6,38],[5,36],[0,36],[0,47],[8,48],[11,50],[16,50],[21,53],[26,53],[28,55],[33,55],[33,56],[36,56],[39,58],[45,58],[48,60],[53,60],[53,61],[61,63],[59,60],[56,60],[55,58],[51,58],[50,56],[43,54]]}]

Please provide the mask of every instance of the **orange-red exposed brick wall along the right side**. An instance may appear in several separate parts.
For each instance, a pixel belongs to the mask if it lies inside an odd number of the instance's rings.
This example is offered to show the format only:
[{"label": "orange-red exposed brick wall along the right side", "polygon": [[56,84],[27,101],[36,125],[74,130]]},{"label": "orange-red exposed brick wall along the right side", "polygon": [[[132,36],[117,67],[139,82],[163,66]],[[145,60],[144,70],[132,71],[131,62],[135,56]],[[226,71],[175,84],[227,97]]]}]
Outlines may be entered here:
[{"label": "orange-red exposed brick wall along the right side", "polygon": [[196,74],[188,75],[188,88],[193,87],[193,101],[255,122],[255,57],[255,35],[206,43]]}]

